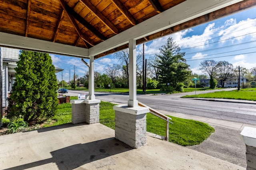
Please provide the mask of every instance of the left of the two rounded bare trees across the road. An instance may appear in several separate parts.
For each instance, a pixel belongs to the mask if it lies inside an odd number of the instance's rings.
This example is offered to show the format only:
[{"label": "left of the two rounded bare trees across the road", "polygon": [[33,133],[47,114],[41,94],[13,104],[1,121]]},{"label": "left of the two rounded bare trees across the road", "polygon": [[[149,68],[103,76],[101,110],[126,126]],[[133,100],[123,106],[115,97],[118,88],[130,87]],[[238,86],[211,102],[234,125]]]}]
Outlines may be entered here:
[{"label": "left of the two rounded bare trees across the road", "polygon": [[[214,76],[216,75],[216,65],[218,62],[214,60],[204,60],[199,65],[199,70],[201,70],[204,74],[208,74],[210,76],[210,81],[213,81]],[[210,88],[214,89],[214,83],[210,84]]]}]

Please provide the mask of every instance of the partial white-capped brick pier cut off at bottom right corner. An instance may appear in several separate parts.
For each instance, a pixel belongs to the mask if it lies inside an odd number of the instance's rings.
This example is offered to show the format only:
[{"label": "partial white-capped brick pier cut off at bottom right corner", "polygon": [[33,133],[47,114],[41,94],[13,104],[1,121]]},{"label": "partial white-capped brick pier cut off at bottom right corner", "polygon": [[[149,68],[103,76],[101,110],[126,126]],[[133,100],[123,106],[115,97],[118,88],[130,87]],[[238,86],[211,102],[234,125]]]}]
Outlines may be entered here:
[{"label": "partial white-capped brick pier cut off at bottom right corner", "polygon": [[256,170],[256,128],[244,127],[240,138],[246,145],[246,169]]}]

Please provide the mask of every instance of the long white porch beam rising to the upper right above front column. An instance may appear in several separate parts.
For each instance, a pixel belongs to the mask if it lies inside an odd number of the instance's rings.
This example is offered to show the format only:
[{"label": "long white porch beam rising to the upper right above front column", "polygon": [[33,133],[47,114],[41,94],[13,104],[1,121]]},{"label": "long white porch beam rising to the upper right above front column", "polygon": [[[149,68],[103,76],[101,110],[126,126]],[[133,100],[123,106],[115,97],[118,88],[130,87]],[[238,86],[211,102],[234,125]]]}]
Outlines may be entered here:
[{"label": "long white porch beam rising to the upper right above front column", "polygon": [[104,53],[128,43],[130,39],[140,39],[240,1],[242,0],[186,0],[169,10],[91,47],[89,49],[89,55],[95,56]]}]

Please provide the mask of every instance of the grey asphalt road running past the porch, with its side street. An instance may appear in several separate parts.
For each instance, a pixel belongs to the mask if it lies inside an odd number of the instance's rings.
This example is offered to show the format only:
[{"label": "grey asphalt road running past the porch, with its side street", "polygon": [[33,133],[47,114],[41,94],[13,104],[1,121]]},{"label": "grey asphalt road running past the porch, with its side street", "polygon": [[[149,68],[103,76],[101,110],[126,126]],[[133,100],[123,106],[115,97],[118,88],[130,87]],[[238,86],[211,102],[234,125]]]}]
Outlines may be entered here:
[{"label": "grey asphalt road running past the porch, with its side street", "polygon": [[[228,88],[225,90],[234,89]],[[214,90],[198,91],[197,94],[208,92],[214,92]],[[84,92],[70,90],[68,94],[70,96],[77,96],[79,93]],[[88,92],[85,93],[88,94]],[[137,95],[137,100],[154,109],[256,125],[256,104],[180,98],[187,94],[194,94],[194,92],[164,95]],[[128,94],[95,92],[95,96],[97,99],[117,104],[127,104],[129,99]]]}]

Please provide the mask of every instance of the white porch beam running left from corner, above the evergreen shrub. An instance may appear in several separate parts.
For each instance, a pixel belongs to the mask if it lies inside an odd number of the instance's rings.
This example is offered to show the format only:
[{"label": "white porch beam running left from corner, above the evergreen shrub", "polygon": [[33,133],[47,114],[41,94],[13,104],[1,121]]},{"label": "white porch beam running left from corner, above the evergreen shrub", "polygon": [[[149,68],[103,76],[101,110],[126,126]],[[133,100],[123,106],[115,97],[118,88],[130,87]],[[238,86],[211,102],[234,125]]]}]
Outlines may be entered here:
[{"label": "white porch beam running left from corner, above the evergreen shrub", "polygon": [[88,58],[88,49],[0,32],[0,46]]}]

